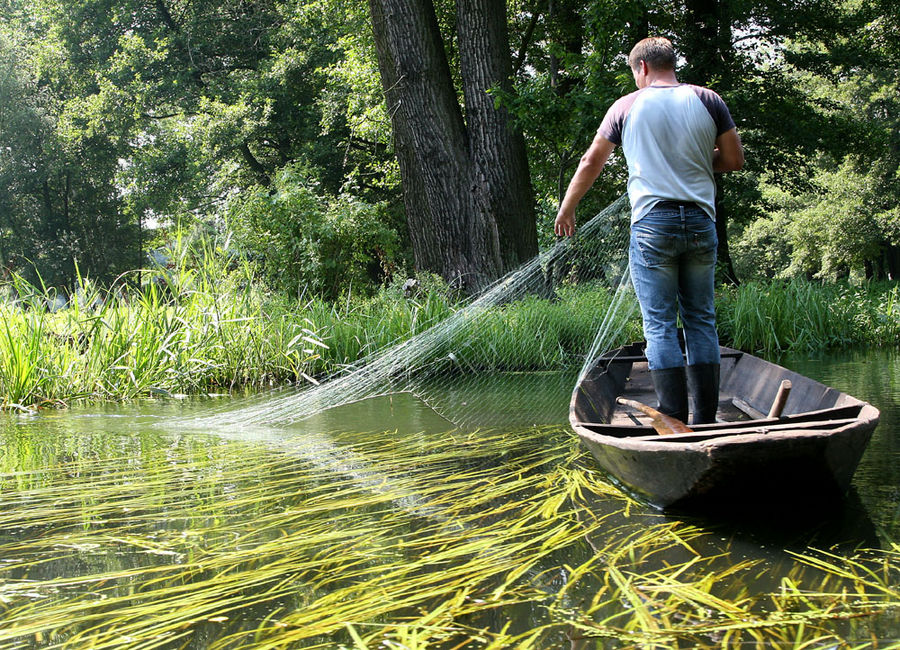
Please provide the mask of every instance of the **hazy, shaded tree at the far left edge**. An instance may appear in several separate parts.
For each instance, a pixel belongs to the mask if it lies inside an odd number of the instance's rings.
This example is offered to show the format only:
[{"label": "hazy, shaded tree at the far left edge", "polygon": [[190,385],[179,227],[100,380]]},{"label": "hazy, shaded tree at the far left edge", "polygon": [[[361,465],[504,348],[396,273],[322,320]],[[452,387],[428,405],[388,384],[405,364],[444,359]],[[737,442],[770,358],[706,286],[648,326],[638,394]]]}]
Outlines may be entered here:
[{"label": "hazy, shaded tree at the far left edge", "polygon": [[82,272],[133,268],[136,233],[122,224],[110,134],[61,123],[58,96],[30,68],[21,33],[0,34],[0,260],[47,285]]}]

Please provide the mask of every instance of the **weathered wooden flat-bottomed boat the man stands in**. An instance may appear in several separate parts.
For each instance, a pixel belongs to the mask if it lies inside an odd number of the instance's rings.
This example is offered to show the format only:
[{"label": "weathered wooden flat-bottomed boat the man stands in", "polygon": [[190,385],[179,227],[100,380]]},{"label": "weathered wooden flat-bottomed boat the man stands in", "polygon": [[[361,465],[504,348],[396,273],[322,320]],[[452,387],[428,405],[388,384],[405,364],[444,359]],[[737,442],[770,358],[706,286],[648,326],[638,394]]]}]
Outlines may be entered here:
[{"label": "weathered wooden flat-bottomed boat the man stands in", "polygon": [[[721,353],[713,424],[659,435],[647,415],[617,402],[656,405],[643,342],[594,360],[569,421],[617,485],[661,509],[833,503],[849,488],[878,410],[751,354]],[[783,380],[791,391],[769,417]]]}]

